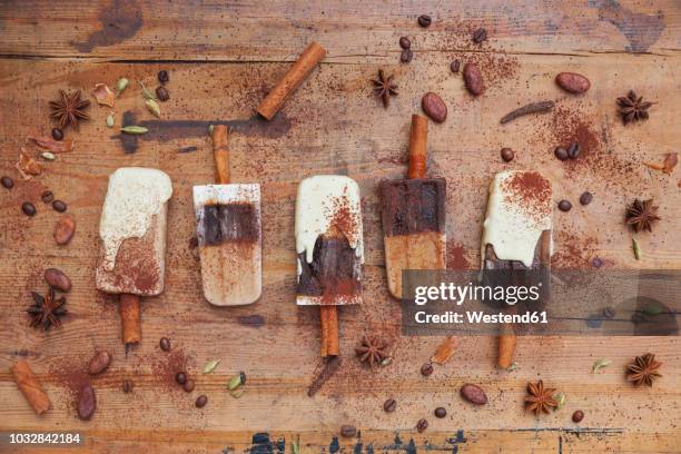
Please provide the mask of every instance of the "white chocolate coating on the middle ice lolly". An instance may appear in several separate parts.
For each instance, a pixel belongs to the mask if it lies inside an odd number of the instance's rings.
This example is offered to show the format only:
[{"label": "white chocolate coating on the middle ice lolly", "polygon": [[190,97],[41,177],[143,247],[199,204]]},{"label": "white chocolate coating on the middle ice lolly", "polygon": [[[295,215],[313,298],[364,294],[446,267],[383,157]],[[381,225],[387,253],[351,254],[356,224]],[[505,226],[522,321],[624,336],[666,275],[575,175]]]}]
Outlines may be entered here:
[{"label": "white chocolate coating on the middle ice lolly", "polygon": [[364,263],[362,204],[357,182],[339,175],[317,175],[300,181],[296,200],[296,251],[305,253],[307,263],[313,260],[317,238],[329,229],[339,210],[347,219],[336,223],[336,227],[355,249],[359,261]]}]

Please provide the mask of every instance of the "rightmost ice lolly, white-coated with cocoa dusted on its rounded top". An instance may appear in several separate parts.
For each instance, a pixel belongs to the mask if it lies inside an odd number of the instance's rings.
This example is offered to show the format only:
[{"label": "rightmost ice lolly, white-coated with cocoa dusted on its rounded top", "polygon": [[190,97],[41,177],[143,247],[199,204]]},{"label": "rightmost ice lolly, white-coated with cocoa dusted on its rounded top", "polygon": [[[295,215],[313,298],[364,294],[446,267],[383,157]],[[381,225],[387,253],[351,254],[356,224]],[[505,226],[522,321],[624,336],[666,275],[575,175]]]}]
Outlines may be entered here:
[{"label": "rightmost ice lolly, white-coated with cocoa dusted on its rounded top", "polygon": [[[483,283],[499,277],[515,285],[540,283],[543,295],[550,295],[552,253],[551,181],[532,170],[507,170],[496,174],[487,199],[487,213],[481,248]],[[490,270],[491,273],[485,274]],[[534,273],[527,274],[527,270]],[[493,284],[493,283],[492,283]],[[509,368],[513,363],[516,336],[511,325],[501,327],[497,364]]]}]

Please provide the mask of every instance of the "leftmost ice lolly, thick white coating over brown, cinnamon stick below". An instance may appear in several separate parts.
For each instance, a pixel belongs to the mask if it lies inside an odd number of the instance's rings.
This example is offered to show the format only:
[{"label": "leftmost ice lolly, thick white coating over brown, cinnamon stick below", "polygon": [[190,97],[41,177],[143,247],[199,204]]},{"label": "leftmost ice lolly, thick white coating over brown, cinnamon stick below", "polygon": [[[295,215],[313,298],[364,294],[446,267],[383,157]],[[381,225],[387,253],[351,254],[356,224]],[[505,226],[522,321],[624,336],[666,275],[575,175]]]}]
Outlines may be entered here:
[{"label": "leftmost ice lolly, thick white coating over brown, cinnamon stick below", "polygon": [[125,167],[109,177],[101,211],[97,288],[120,294],[126,345],[141,340],[139,297],[164,290],[170,178],[157,169]]}]

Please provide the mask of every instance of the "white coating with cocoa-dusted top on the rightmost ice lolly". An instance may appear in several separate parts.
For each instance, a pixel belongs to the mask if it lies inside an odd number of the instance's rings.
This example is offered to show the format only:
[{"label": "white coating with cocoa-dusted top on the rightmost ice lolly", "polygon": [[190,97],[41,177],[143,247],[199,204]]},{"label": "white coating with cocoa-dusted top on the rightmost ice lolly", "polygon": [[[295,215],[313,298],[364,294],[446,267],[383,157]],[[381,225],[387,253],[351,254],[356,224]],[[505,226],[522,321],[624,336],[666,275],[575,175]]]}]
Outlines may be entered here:
[{"label": "white coating with cocoa-dusted top on the rightmost ice lolly", "polygon": [[485,247],[492,245],[499,259],[522,261],[530,268],[542,231],[552,228],[551,182],[545,177],[539,176],[545,180],[547,190],[532,193],[532,198],[527,200],[517,190],[513,190],[511,185],[515,177],[523,174],[527,175],[530,171],[502,171],[494,176],[490,185],[481,248],[483,266]]}]

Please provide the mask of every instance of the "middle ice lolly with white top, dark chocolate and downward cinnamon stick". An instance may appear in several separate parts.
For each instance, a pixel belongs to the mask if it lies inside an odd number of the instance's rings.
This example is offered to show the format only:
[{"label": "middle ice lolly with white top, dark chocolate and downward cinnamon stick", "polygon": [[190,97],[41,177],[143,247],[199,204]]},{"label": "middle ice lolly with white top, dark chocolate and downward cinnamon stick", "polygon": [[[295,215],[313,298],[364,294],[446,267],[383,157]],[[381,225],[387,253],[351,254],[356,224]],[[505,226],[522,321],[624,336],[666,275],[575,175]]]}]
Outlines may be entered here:
[{"label": "middle ice lolly with white top, dark chocolate and downward cinnamon stick", "polygon": [[338,355],[336,306],[362,303],[359,187],[344,176],[320,175],[298,186],[296,303],[320,306],[322,356]]}]

